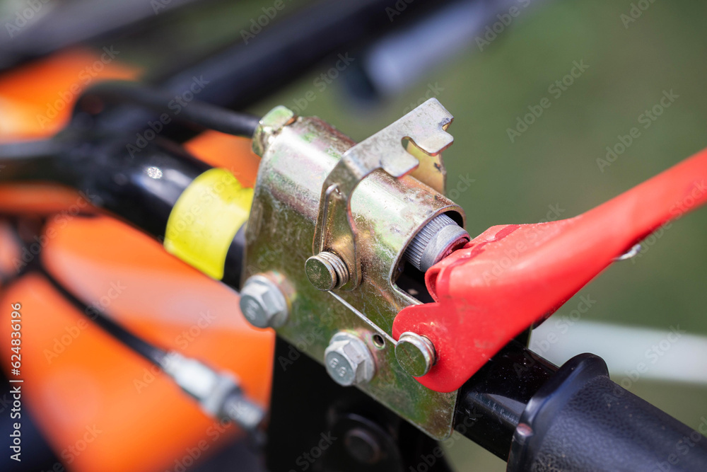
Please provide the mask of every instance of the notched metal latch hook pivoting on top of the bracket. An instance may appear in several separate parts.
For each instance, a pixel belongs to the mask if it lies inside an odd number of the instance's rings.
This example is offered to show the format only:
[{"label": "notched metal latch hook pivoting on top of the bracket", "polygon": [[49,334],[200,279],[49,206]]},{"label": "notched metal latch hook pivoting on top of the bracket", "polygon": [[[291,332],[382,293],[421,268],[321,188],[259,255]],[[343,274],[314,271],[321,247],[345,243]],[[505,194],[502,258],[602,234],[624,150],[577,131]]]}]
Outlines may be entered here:
[{"label": "notched metal latch hook pivoting on top of the bracket", "polygon": [[[361,180],[378,169],[395,178],[414,177],[444,194],[445,170],[441,153],[454,138],[446,129],[454,117],[436,98],[349,149],[322,185],[312,251],[338,255],[348,271],[341,289],[361,283],[361,258],[356,250],[356,224],[351,195]],[[414,172],[417,171],[417,172]]]}]

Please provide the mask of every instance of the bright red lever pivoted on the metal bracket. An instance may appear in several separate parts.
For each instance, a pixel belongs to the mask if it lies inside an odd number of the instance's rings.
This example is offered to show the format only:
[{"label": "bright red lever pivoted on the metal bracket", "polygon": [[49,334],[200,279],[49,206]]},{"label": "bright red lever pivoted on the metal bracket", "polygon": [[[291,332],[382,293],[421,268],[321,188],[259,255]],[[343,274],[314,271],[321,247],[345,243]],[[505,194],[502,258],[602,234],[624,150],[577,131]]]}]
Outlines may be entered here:
[{"label": "bright red lever pivoted on the metal bracket", "polygon": [[436,303],[398,313],[393,337],[429,338],[437,363],[417,380],[462,386],[523,330],[556,311],[662,224],[707,202],[707,149],[578,217],[492,226],[425,275]]}]

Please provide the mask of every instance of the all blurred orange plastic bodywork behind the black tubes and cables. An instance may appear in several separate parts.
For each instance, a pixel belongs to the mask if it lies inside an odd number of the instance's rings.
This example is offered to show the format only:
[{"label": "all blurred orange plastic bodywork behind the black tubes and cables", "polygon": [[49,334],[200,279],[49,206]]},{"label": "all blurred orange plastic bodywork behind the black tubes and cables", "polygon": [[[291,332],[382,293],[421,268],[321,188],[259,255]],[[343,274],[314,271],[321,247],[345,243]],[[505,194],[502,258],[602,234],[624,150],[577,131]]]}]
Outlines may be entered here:
[{"label": "all blurred orange plastic bodywork behind the black tubes and cables", "polygon": [[[36,114],[97,60],[87,54],[59,54],[23,68],[25,74],[0,77],[0,97],[13,104],[6,116],[18,120],[11,127],[0,122],[0,139],[46,137],[60,129],[71,107],[44,129]],[[116,68],[111,78],[136,74],[117,61],[110,67]],[[255,182],[258,158],[247,139],[207,132],[187,149],[230,169],[244,185]],[[266,405],[274,333],[250,327],[238,310],[238,294],[168,255],[158,242],[107,216],[77,216],[80,199],[45,185],[0,187],[0,211],[59,212],[48,218],[36,248],[42,246],[49,270],[78,297],[161,347],[233,372],[245,392]],[[9,241],[4,236],[1,242]],[[34,250],[2,256],[5,268],[8,260],[17,267],[37,257]],[[3,288],[1,367],[9,374],[10,305],[21,303],[23,408],[68,470],[188,468],[194,456],[206,456],[238,434],[207,418],[165,375],[86,321],[40,275]]]}]

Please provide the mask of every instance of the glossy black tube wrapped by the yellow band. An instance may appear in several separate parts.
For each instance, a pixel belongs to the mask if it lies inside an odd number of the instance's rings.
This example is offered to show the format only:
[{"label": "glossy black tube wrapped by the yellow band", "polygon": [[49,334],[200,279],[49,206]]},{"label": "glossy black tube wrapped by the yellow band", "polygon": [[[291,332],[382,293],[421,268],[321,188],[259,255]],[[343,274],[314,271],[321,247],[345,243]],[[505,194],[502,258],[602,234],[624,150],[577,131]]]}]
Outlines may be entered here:
[{"label": "glossy black tube wrapped by the yellow band", "polygon": [[[211,166],[162,137],[139,151],[129,149],[132,142],[125,135],[66,134],[51,142],[0,146],[0,183],[66,185],[161,243],[177,198]],[[244,247],[241,229],[228,248],[221,280],[234,289],[240,288]]]}]

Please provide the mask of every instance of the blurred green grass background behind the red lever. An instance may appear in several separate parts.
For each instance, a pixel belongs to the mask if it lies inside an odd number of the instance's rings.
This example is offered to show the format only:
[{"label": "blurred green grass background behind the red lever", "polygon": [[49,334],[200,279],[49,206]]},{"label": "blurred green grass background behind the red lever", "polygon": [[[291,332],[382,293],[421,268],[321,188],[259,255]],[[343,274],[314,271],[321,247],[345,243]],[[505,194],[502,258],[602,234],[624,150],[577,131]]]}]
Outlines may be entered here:
[{"label": "blurred green grass background behind the red lever", "polygon": [[[228,6],[231,13],[185,24],[201,42],[218,42],[243,26],[233,18],[257,16],[262,5],[242,2]],[[292,106],[315,90],[305,114],[360,140],[396,120],[436,84],[443,88],[437,98],[455,116],[455,143],[445,153],[448,183],[456,185],[460,175],[474,179],[457,198],[472,236],[494,224],[540,221],[550,205],[571,217],[707,146],[707,4],[657,0],[626,28],[621,15],[630,9],[627,0],[536,2],[483,51],[470,43],[395,99],[363,107],[350,100],[341,79],[317,91],[315,79],[332,62],[252,111]],[[548,87],[575,61],[588,69],[555,98]],[[643,129],[638,116],[670,90],[679,98]],[[551,107],[510,142],[507,129],[543,97]],[[600,171],[597,159],[631,127],[639,127],[641,137]],[[588,318],[658,329],[679,324],[707,335],[706,242],[707,210],[688,214],[635,263],[614,265],[585,288],[598,301]],[[593,342],[601,345],[602,339]],[[692,427],[707,415],[704,386],[641,379],[631,389]],[[449,452],[463,470],[505,470],[502,461],[468,441],[455,442]]]}]

